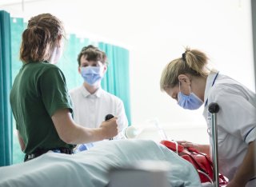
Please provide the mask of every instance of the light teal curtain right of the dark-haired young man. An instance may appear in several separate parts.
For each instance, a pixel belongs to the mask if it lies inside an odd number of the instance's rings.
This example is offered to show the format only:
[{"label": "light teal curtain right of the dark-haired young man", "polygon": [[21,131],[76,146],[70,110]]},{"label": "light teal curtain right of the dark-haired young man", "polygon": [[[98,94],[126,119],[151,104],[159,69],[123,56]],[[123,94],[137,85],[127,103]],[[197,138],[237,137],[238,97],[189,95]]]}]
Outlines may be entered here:
[{"label": "light teal curtain right of the dark-haired young man", "polygon": [[122,99],[130,125],[129,50],[104,42],[99,42],[98,48],[105,51],[109,62],[106,76],[102,79],[102,89]]}]

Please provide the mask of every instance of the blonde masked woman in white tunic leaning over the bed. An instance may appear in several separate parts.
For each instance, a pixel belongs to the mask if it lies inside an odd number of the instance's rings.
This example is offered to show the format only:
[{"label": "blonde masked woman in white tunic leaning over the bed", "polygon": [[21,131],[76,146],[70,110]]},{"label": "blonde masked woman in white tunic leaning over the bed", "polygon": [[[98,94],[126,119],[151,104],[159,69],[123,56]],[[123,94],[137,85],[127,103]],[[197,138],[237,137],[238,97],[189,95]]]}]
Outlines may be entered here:
[{"label": "blonde masked woman in white tunic leaning over the bed", "polygon": [[[209,70],[207,61],[202,51],[187,47],[181,58],[171,61],[162,71],[160,88],[184,109],[204,105],[210,137],[207,109],[211,102],[218,103],[219,171],[229,178],[227,187],[256,186],[256,95],[234,79]],[[211,141],[210,145],[178,143],[210,154]]]}]

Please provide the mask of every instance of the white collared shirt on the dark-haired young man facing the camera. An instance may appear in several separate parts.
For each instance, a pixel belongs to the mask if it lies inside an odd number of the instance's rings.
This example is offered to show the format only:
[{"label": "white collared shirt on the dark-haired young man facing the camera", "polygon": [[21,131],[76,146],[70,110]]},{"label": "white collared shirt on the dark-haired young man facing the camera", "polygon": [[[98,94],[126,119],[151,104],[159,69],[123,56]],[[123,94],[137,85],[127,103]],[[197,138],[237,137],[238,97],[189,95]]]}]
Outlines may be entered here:
[{"label": "white collared shirt on the dark-haired young man facing the camera", "polygon": [[90,94],[84,86],[70,90],[70,96],[74,110],[74,121],[78,125],[89,128],[97,128],[105,121],[107,114],[118,117],[118,136],[123,138],[122,130],[128,126],[125,108],[120,98],[98,88],[94,94]]}]

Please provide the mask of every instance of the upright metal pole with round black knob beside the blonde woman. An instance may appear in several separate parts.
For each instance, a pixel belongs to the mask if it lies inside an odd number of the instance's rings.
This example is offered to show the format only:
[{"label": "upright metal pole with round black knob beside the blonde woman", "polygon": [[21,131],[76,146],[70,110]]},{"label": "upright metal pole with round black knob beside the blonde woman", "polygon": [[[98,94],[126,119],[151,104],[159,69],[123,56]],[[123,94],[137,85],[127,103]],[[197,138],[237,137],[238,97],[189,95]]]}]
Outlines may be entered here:
[{"label": "upright metal pole with round black knob beside the blonde woman", "polygon": [[210,112],[210,122],[211,122],[211,129],[212,129],[212,156],[214,162],[214,186],[218,187],[219,180],[218,180],[218,129],[216,123],[216,113],[218,113],[219,106],[216,102],[211,102],[208,106],[208,111]]}]

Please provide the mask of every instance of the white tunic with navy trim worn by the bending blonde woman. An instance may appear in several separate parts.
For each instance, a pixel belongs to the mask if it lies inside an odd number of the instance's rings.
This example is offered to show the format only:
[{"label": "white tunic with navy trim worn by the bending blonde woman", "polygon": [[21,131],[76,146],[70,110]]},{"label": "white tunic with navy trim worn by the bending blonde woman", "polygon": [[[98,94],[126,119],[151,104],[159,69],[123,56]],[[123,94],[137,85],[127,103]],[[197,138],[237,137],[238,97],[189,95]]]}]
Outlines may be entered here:
[{"label": "white tunic with navy trim worn by the bending blonde woman", "polygon": [[[256,95],[234,79],[214,73],[207,78],[204,98],[203,116],[208,129],[211,130],[208,105],[217,102],[220,108],[216,114],[218,165],[220,173],[231,180],[246,155],[248,144],[256,139]],[[256,180],[246,186],[256,186]]]}]

